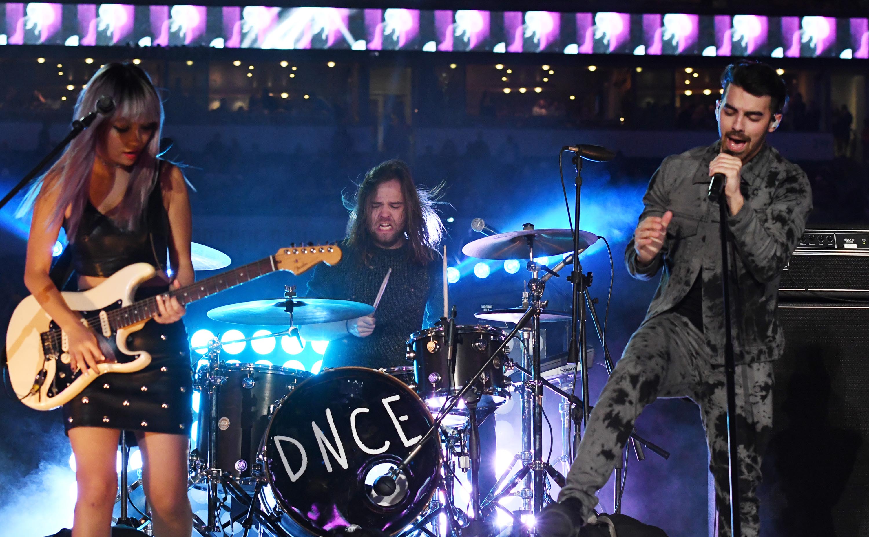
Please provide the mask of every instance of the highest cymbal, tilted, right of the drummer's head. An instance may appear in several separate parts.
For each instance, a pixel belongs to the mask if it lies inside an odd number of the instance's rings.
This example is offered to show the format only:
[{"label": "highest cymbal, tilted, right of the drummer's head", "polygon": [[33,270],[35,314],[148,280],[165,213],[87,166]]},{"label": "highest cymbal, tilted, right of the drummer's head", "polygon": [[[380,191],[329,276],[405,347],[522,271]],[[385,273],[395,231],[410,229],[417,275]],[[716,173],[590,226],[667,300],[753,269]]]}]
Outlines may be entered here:
[{"label": "highest cymbal, tilted, right of the drummer's head", "polygon": [[[580,230],[579,234],[580,253],[597,242],[597,235],[594,233]],[[531,257],[529,242],[534,248],[534,257],[574,251],[574,237],[570,229],[523,229],[468,242],[461,252],[481,259],[528,259]]]}]

